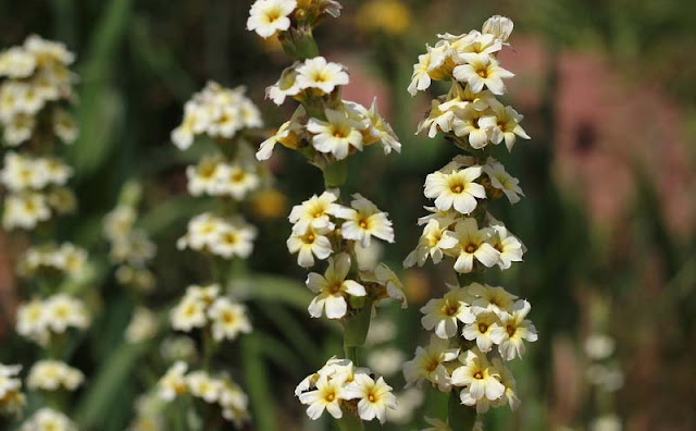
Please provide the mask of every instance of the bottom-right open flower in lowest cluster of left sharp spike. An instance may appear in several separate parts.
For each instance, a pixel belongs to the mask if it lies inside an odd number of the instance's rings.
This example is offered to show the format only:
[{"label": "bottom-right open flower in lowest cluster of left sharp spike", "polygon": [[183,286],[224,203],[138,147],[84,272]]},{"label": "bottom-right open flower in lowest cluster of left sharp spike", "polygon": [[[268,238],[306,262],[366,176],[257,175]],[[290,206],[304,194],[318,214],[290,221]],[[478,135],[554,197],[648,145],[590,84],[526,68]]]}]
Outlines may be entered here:
[{"label": "bottom-right open flower in lowest cluster of left sharp spike", "polygon": [[358,416],[362,420],[377,418],[380,423],[386,420],[387,408],[396,409],[396,396],[384,378],[374,381],[369,374],[356,374],[355,380],[346,387],[346,399],[358,401]]}]

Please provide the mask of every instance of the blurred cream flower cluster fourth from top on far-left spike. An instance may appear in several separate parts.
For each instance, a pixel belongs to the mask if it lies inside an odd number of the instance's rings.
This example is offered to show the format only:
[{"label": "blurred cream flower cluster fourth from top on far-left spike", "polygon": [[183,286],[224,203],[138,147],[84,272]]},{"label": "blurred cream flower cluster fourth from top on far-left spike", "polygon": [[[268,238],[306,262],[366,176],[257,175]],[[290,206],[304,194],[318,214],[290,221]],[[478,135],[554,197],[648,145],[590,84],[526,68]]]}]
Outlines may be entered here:
[{"label": "blurred cream flower cluster fourth from top on far-left spike", "polygon": [[71,328],[85,330],[88,325],[85,304],[63,293],[32,299],[17,309],[17,333],[41,346],[47,346],[53,336],[62,335]]}]

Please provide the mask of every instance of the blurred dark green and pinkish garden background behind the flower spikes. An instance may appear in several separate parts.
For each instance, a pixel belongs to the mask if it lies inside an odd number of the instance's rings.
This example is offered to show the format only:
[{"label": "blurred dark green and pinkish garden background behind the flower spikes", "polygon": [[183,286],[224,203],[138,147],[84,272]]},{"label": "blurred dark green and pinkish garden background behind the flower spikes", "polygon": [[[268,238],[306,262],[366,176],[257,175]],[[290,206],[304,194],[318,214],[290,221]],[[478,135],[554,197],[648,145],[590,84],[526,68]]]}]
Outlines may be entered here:
[{"label": "blurred dark green and pinkish garden background behind the flower spikes", "polygon": [[[696,3],[340,2],[343,16],[316,32],[320,50],[350,70],[345,98],[369,106],[376,96],[403,144],[401,155],[371,150],[352,158],[347,187],[394,220],[396,244],[376,250],[393,268],[418,242],[425,175],[457,153],[444,140],[414,136],[437,88],[411,98],[406,87],[412,64],[437,33],[481,28],[492,14],[514,21],[512,49],[500,61],[517,74],[508,84],[509,102],[525,115],[532,140],[497,157],[521,180],[526,198],[513,208],[497,202],[493,211],[529,251],[523,263],[490,281],[531,301],[539,341],[511,364],[522,407],[489,412],[486,429],[591,429],[607,415],[617,415],[627,430],[696,429]],[[184,168],[198,155],[182,155],[169,139],[183,103],[214,79],[247,86],[269,132],[294,109],[264,100],[288,60],[278,44],[245,29],[250,3],[0,1],[2,48],[36,33],[77,53],[80,137],[69,160],[76,167],[80,211],[60,232],[103,260],[91,299],[98,318],[73,359],[88,375],[73,415],[87,430],[126,428],[135,396],[148,387],[147,370],[165,367],[157,364],[161,337],[146,346],[123,342],[133,298],[116,287],[100,236],[101,219],[122,185],[135,177],[145,186],[141,223],[159,246],[158,291],[148,300],[171,303],[207,271],[192,254],[175,248],[188,219],[203,208],[186,196]],[[290,207],[320,193],[323,183],[298,155],[276,152],[276,187],[245,209],[261,232],[250,260],[259,275],[249,278],[256,332],[220,361],[237,370],[252,398],[268,395],[265,403],[252,399],[263,426],[320,430],[328,421],[306,423],[293,390],[340,352],[340,332],[307,315],[306,273],[285,239]],[[0,236],[3,364],[28,364],[37,354],[11,324],[26,296],[13,275],[21,248],[21,238]],[[382,368],[399,393],[400,364],[426,336],[419,308],[452,281],[445,266],[401,275],[410,307],[382,308],[370,335],[373,347],[365,349],[372,352],[368,365]],[[417,429],[423,426],[419,408],[446,406],[428,391],[401,395],[412,418],[391,418],[388,429]]]}]

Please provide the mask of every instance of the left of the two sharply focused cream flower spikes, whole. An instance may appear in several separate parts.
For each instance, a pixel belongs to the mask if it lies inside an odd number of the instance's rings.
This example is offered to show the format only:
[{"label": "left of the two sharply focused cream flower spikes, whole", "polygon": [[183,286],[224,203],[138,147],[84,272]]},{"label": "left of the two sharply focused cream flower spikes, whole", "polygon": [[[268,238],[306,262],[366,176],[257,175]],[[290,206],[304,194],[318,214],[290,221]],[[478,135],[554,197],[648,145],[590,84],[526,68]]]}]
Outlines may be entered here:
[{"label": "left of the two sharply focused cream flower spikes, whole", "polygon": [[[299,102],[290,120],[261,144],[257,159],[271,158],[281,144],[324,174],[326,192],[293,208],[287,247],[298,255],[302,268],[327,260],[323,274],[311,272],[307,279],[307,286],[316,294],[308,310],[314,318],[340,319],[346,359],[330,360],[314,374],[316,379],[310,377],[300,384],[306,387],[298,389],[297,395],[310,405],[311,419],[324,409],[338,419],[341,406],[352,406],[349,411],[357,420],[383,422],[387,408],[396,406],[395,396],[382,378],[374,380],[366,371],[356,373],[353,381],[356,349],[364,344],[374,307],[389,297],[406,306],[406,297],[386,264],[361,268],[358,254],[373,237],[393,243],[394,229],[388,214],[360,194],[352,195],[349,205],[343,204],[340,187],[347,176],[344,161],[350,155],[373,144],[381,144],[385,153],[399,152],[401,144],[380,115],[376,100],[368,109],[341,98],[341,87],[349,83],[346,67],[319,56],[312,30],[326,15],[338,16],[339,11],[340,4],[326,0],[259,0],[251,7],[247,27],[264,38],[277,35],[295,60],[266,89],[266,97],[278,106],[288,98]],[[337,372],[338,368],[348,371]],[[314,390],[302,392],[310,389]]]}]

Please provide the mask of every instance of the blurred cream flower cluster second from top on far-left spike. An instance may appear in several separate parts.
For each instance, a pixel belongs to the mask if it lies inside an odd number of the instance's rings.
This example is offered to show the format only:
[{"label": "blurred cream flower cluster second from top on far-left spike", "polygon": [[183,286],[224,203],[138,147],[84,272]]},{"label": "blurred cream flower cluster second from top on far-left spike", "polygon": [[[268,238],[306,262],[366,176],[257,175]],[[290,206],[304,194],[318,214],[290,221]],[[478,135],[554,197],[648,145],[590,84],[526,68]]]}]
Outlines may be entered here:
[{"label": "blurred cream flower cluster second from top on far-left spike", "polygon": [[52,157],[32,157],[9,151],[0,170],[5,197],[2,226],[32,230],[53,214],[75,210],[75,196],[65,187],[73,170]]}]

